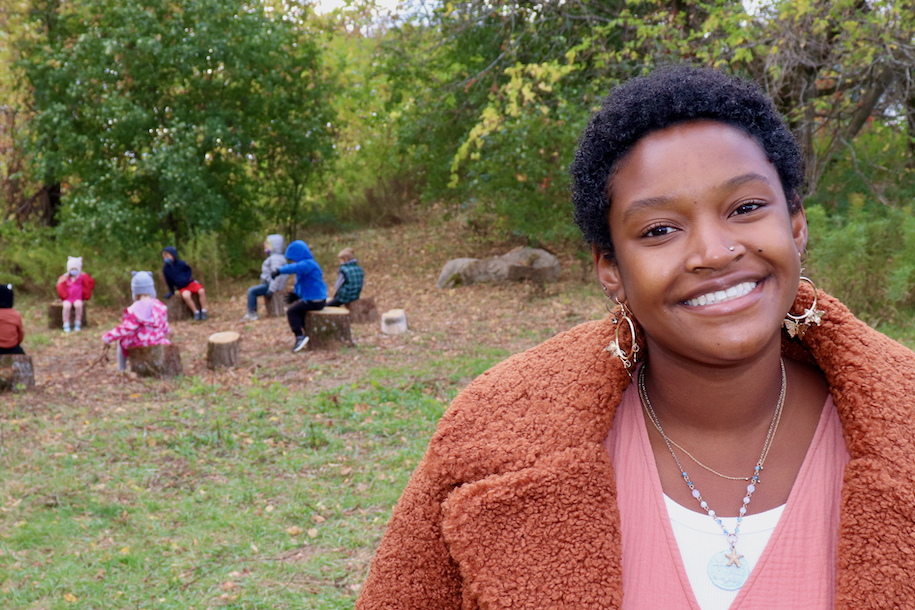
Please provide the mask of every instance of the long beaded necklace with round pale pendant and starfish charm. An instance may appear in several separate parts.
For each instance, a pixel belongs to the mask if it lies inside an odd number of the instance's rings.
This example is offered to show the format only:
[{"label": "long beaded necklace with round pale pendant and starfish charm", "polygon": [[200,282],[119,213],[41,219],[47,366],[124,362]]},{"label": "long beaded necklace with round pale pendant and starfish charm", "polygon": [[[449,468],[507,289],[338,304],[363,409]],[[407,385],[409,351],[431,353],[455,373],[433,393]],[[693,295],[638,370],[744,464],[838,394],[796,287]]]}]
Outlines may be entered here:
[{"label": "long beaded necklace with round pale pendant and starfish charm", "polygon": [[[642,407],[645,409],[646,413],[648,413],[648,418],[651,420],[651,423],[654,424],[654,427],[657,428],[658,432],[661,434],[661,438],[664,439],[664,444],[667,445],[667,450],[670,451],[670,455],[674,458],[677,468],[680,469],[680,475],[683,477],[683,481],[686,483],[687,487],[689,487],[693,497],[699,502],[699,506],[708,513],[708,516],[715,520],[715,523],[717,523],[718,527],[721,528],[721,531],[724,532],[725,538],[728,541],[731,552],[727,553],[726,551],[721,551],[715,553],[708,564],[708,575],[712,583],[716,587],[726,591],[735,591],[739,589],[750,577],[749,562],[744,560],[743,563],[741,563],[740,560],[744,557],[737,553],[737,536],[740,533],[740,524],[743,522],[743,517],[747,514],[747,506],[750,504],[750,499],[756,491],[756,486],[759,485],[759,475],[763,470],[763,463],[769,455],[769,448],[772,446],[772,439],[775,438],[775,431],[778,430],[778,423],[782,418],[782,411],[785,407],[785,394],[788,387],[787,376],[785,374],[785,361],[779,359],[779,364],[782,369],[782,387],[778,394],[778,403],[775,406],[775,413],[772,415],[772,422],[769,424],[769,431],[766,433],[766,442],[763,444],[762,453],[760,453],[759,460],[757,460],[756,466],[753,468],[753,475],[745,479],[750,483],[747,485],[747,495],[743,498],[743,504],[740,507],[737,517],[737,525],[733,532],[728,531],[724,526],[721,517],[709,507],[708,502],[702,499],[702,494],[699,493],[699,490],[696,489],[692,479],[690,479],[689,475],[686,474],[686,471],[683,470],[683,466],[680,464],[680,460],[674,452],[674,443],[667,437],[667,434],[664,433],[664,428],[661,427],[661,420],[658,419],[657,414],[654,412],[654,408],[651,406],[651,401],[648,399],[648,391],[645,389],[645,369],[648,367],[642,365],[642,368],[639,369],[639,399],[642,402]],[[677,445],[677,447],[680,447],[680,445]],[[684,449],[684,451],[686,450]],[[695,458],[692,459],[695,461]]]}]

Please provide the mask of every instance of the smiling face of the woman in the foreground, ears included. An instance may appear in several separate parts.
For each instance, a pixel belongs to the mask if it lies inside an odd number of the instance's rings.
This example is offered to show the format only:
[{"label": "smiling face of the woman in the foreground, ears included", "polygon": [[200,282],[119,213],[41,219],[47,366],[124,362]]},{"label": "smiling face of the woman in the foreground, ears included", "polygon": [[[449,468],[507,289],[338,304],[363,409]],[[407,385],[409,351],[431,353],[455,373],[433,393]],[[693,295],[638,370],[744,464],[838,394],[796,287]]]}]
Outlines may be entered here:
[{"label": "smiling face of the woman in the foreground, ears included", "polygon": [[609,189],[616,258],[595,256],[598,275],[653,358],[727,364],[778,349],[807,221],[759,144],[714,121],[669,127],[633,147]]}]

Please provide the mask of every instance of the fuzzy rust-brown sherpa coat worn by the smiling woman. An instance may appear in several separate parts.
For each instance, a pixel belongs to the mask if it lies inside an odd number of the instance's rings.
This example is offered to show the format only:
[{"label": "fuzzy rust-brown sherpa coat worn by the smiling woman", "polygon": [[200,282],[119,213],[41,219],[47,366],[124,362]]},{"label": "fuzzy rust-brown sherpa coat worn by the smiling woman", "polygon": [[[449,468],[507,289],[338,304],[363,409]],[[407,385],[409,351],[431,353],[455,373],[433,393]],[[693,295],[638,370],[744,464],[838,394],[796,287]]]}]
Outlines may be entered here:
[{"label": "fuzzy rust-brown sherpa coat worn by the smiling woman", "polygon": [[[810,303],[802,285],[794,311]],[[915,353],[820,292],[786,355],[823,370],[851,460],[836,608],[915,608]],[[603,446],[629,384],[609,319],[484,373],[453,402],[394,509],[359,610],[619,608],[622,551]]]}]

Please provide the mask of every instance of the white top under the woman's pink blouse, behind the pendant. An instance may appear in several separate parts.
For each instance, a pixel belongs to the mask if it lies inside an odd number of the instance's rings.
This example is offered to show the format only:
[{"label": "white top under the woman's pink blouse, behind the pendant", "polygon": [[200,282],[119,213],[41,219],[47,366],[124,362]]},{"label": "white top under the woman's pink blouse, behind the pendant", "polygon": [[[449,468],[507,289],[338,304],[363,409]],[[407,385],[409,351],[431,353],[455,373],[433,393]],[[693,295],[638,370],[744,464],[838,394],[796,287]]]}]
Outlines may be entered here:
[{"label": "white top under the woman's pink blouse, behind the pendant", "polygon": [[[696,557],[711,557],[715,553],[730,549],[721,527],[707,513],[698,513],[681,506],[667,494],[664,494],[664,504],[667,506],[670,526],[680,549],[680,557],[683,558],[686,577],[699,607],[702,610],[727,610],[740,593],[740,589],[725,591],[716,587],[708,577],[708,564],[696,560]],[[749,561],[751,574],[784,510],[785,505],[782,504],[743,518],[737,540],[737,552],[743,555],[741,563]],[[721,517],[721,521],[729,532],[733,532],[737,526],[737,517]]]}]

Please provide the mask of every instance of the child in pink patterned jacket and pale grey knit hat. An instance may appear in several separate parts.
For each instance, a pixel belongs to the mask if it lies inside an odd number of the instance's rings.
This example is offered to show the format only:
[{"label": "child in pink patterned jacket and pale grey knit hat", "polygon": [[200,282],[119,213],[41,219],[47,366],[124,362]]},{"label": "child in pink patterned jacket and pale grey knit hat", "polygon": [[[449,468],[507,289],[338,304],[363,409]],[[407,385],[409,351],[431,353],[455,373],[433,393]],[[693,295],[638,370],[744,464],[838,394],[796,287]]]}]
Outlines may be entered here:
[{"label": "child in pink patterned jacket and pale grey knit hat", "polygon": [[148,345],[170,345],[168,337],[168,308],[156,298],[156,285],[151,271],[134,271],[130,292],[134,303],[124,310],[120,326],[102,335],[109,345],[118,344],[118,372],[127,370],[127,350]]}]

